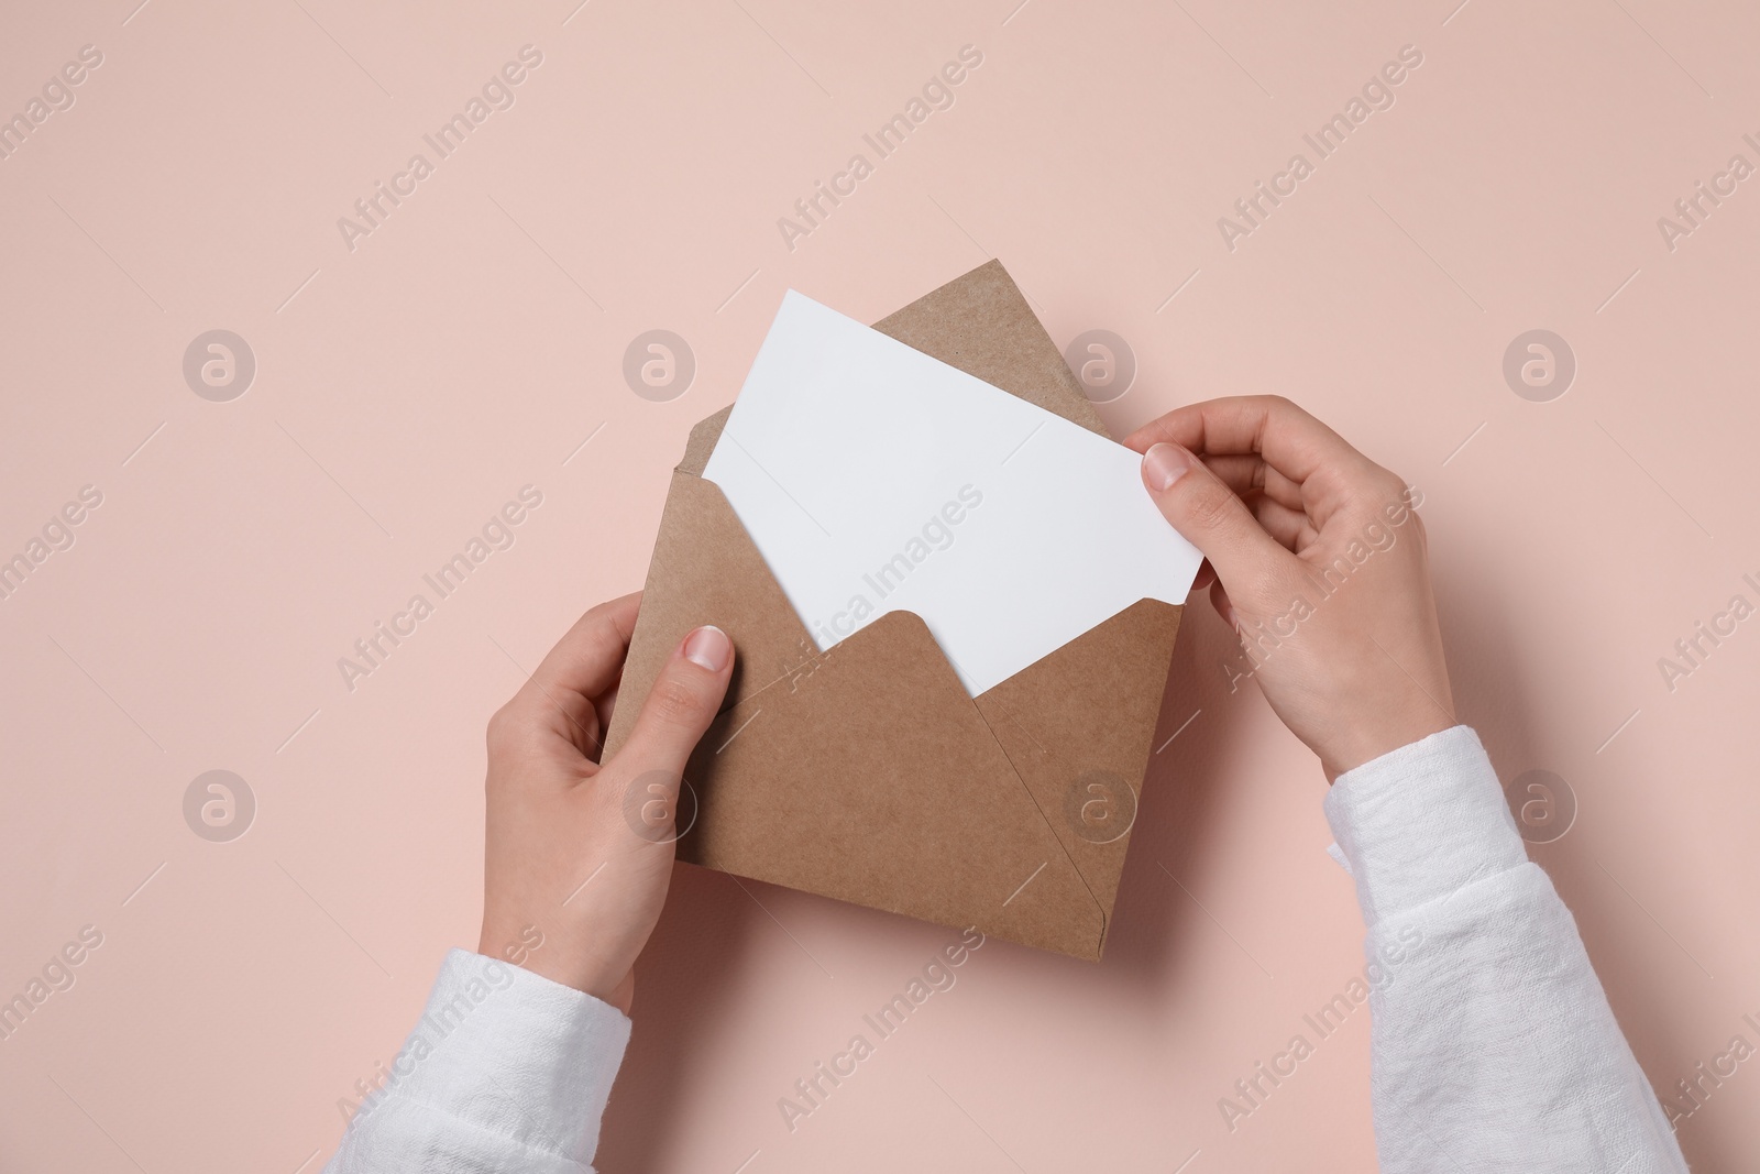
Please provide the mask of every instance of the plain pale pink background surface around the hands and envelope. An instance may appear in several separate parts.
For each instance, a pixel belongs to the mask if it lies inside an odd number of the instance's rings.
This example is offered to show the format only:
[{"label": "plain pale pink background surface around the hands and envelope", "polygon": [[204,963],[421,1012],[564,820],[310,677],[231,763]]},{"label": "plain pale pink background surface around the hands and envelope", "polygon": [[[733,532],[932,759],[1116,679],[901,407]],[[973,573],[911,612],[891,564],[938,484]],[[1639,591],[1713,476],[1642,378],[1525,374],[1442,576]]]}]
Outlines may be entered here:
[{"label": "plain pale pink background surface around the hands and envelope", "polygon": [[[1760,181],[1658,227],[1760,164],[1751,5],[137,2],[14,5],[0,37],[0,114],[102,53],[0,160],[0,556],[102,493],[0,600],[0,996],[102,933],[0,1040],[0,1169],[322,1165],[475,943],[484,720],[641,584],[781,292],[873,320],[991,255],[1060,347],[1126,340],[1114,431],[1281,393],[1422,489],[1461,715],[1575,794],[1533,855],[1651,1082],[1760,1044],[1760,620],[1658,667],[1760,602]],[[440,160],[422,136],[521,46],[514,106]],[[875,162],[961,46],[952,107]],[[1403,46],[1396,104],[1318,160],[1302,134]],[[790,248],[778,218],[857,151]],[[1297,151],[1230,250],[1218,218]],[[433,174],[350,250],[338,218],[414,153]],[[257,363],[225,403],[183,378],[209,329]],[[649,329],[697,363],[667,403],[621,373]],[[1503,378],[1529,329],[1575,354],[1561,398]],[[350,692],[338,658],[523,486],[516,544]],[[986,945],[792,1134],[776,1100],[954,935],[683,868],[602,1169],[1369,1169],[1366,1012],[1218,1111],[1362,965],[1325,783],[1228,648],[1193,607],[1105,963]],[[209,769],[257,803],[227,843],[183,815]],[[1679,1137],[1753,1169],[1760,1061]]]}]

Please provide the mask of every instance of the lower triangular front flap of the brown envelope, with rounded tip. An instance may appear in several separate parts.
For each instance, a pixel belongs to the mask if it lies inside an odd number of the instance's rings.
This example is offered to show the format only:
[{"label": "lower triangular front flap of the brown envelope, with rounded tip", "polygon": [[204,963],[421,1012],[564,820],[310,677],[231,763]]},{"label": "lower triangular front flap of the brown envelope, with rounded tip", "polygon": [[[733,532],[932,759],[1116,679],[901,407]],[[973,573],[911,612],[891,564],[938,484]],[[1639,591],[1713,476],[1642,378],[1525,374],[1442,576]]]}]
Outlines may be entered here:
[{"label": "lower triangular front flap of the brown envelope, with rounded tip", "polygon": [[1100,958],[1105,910],[912,613],[725,711],[686,778],[679,859]]}]

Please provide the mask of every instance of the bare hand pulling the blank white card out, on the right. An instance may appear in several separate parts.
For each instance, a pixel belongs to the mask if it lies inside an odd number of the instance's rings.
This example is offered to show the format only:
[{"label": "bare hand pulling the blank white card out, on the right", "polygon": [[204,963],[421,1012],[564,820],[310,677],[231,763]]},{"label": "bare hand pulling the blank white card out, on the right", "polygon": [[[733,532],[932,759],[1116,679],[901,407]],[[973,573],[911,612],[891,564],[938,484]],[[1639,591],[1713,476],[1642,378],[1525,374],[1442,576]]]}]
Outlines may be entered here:
[{"label": "bare hand pulling the blank white card out, on the right", "polygon": [[1244,655],[1230,679],[1258,679],[1327,780],[1456,725],[1424,523],[1399,477],[1278,396],[1177,408],[1125,444],[1214,570],[1211,602]]}]

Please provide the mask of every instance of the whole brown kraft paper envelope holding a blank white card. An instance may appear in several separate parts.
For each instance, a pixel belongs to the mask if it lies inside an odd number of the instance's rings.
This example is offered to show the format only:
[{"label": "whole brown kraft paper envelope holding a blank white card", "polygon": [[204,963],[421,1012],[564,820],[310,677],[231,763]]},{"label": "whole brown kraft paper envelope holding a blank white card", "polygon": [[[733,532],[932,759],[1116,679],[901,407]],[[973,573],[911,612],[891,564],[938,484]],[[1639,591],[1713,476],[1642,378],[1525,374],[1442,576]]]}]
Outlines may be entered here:
[{"label": "whole brown kraft paper envelope holding a blank white card", "polygon": [[[996,260],[875,329],[1105,435]],[[672,473],[605,755],[713,623],[737,669],[685,773],[699,811],[679,859],[1098,961],[1181,609],[1139,600],[977,699],[912,613],[820,653],[700,477],[729,412]]]}]

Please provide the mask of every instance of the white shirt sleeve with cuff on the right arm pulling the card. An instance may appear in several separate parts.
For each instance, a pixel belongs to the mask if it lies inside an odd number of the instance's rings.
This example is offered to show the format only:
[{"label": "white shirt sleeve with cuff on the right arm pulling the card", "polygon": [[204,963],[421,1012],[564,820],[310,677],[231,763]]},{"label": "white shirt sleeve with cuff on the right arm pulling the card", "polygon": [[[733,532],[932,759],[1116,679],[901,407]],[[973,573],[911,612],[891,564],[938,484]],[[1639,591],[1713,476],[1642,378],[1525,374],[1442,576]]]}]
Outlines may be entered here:
[{"label": "white shirt sleeve with cuff on the right arm pulling the card", "polygon": [[1325,815],[1369,931],[1385,1174],[1686,1170],[1473,730],[1341,774]]}]

